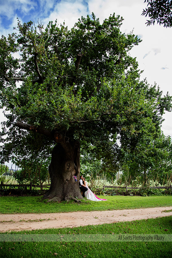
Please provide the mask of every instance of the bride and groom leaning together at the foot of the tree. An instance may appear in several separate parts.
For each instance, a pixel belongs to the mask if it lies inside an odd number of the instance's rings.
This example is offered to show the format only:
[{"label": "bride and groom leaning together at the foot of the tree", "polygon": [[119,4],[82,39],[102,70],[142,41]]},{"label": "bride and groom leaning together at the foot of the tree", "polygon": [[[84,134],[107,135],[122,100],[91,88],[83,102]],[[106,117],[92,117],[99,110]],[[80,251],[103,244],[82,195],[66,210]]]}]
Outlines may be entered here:
[{"label": "bride and groom leaning together at the foot of the tree", "polygon": [[87,182],[85,181],[85,178],[81,175],[79,180],[79,188],[82,192],[82,196],[86,197],[87,199],[91,201],[107,201],[106,199],[100,199],[98,198],[88,187]]}]

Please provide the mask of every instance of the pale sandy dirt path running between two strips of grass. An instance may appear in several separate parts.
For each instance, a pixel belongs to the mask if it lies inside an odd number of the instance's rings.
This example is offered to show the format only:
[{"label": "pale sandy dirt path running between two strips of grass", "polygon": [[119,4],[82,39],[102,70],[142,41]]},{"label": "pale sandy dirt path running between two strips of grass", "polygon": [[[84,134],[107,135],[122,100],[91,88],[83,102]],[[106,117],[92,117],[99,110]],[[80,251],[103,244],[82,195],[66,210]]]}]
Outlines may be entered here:
[{"label": "pale sandy dirt path running between two strips of grass", "polygon": [[0,232],[64,228],[86,225],[132,221],[172,215],[171,207],[157,207],[136,210],[108,210],[93,212],[0,214]]}]

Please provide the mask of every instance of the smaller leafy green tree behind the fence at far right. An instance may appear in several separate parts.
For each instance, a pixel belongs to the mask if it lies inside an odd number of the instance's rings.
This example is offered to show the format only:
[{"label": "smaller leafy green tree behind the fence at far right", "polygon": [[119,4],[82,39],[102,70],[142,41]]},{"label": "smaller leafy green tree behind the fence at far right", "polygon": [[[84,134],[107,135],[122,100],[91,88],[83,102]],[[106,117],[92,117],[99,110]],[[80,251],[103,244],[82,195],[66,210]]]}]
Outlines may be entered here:
[{"label": "smaller leafy green tree behind the fence at far right", "polygon": [[[130,175],[132,180],[139,177],[148,183],[150,178],[159,175],[159,183],[168,178],[172,172],[172,142],[169,136],[163,134],[157,135],[157,138],[146,135],[138,141],[134,150],[127,149],[123,151],[123,162],[121,170],[122,179]],[[166,178],[166,179],[165,179]],[[168,181],[168,179],[167,179]]]}]

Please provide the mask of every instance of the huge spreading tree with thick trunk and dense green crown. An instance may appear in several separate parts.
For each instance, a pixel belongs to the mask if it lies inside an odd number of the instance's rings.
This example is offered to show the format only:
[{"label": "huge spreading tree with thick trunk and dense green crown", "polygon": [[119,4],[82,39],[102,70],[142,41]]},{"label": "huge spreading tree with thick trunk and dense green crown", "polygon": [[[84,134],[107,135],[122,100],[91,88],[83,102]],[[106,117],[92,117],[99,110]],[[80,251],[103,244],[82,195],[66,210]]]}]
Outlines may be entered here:
[{"label": "huge spreading tree with thick trunk and dense green crown", "polygon": [[139,81],[129,50],[140,40],[122,34],[121,24],[115,14],[102,24],[94,14],[81,17],[71,30],[57,22],[45,29],[18,22],[18,34],[1,37],[1,107],[7,118],[1,156],[38,159],[51,153],[45,198],[82,198],[73,177],[79,179],[80,144],[96,146],[99,158],[109,159],[119,149],[118,137],[134,148],[147,124],[159,130],[161,116],[148,112],[153,101],[161,114],[171,108],[168,94],[155,91],[152,97]]}]

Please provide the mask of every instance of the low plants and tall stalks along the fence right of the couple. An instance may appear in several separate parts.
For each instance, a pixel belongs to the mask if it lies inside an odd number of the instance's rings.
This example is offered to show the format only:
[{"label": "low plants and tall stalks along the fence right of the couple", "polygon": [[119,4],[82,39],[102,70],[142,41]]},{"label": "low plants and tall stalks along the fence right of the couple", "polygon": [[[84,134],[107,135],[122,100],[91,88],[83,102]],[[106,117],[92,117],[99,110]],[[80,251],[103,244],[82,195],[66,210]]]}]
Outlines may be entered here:
[{"label": "low plants and tall stalks along the fence right of the couple", "polygon": [[[171,195],[171,188],[169,189],[155,189],[151,187],[157,186],[165,186],[170,187],[172,183],[172,173],[166,177],[164,177],[163,184],[161,183],[161,179],[157,174],[156,177],[148,179],[145,184],[144,178],[137,177],[135,180],[131,177],[131,175],[126,176],[124,173],[118,180],[111,179],[110,185],[107,184],[106,180],[103,180],[101,176],[97,175],[96,177],[91,178],[89,182],[89,188],[97,195],[108,195],[108,196],[116,196],[116,195],[124,195],[124,196],[153,196],[153,195]],[[109,186],[109,188],[104,187],[104,185]],[[112,188],[111,188],[111,187]],[[126,188],[126,187],[132,187]],[[134,187],[138,187],[135,189]]]}]

